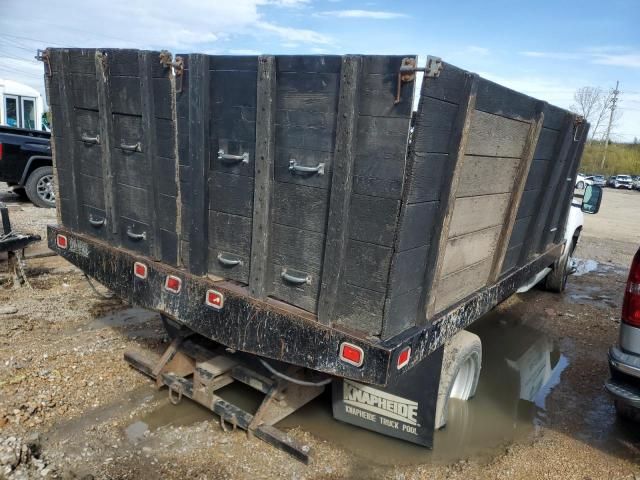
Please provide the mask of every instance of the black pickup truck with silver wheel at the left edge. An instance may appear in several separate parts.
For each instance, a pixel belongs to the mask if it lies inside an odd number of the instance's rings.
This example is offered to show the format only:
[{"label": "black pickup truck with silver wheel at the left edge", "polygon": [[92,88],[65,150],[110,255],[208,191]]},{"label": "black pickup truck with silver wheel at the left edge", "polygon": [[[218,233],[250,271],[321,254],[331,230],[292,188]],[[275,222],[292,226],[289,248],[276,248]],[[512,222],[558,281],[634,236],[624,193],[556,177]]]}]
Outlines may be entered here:
[{"label": "black pickup truck with silver wheel at the left edge", "polygon": [[56,206],[50,138],[40,130],[0,127],[0,182],[46,208]]}]

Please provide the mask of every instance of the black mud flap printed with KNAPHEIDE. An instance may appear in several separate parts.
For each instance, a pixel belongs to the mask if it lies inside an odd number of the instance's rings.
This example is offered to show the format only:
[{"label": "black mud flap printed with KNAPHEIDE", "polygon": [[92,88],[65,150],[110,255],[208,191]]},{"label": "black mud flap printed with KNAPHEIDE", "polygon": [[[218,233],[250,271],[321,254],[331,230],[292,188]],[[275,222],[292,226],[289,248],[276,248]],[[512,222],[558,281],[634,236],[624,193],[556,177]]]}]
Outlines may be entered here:
[{"label": "black mud flap printed with KNAPHEIDE", "polygon": [[387,387],[335,380],[333,417],[432,448],[443,351],[440,347]]}]

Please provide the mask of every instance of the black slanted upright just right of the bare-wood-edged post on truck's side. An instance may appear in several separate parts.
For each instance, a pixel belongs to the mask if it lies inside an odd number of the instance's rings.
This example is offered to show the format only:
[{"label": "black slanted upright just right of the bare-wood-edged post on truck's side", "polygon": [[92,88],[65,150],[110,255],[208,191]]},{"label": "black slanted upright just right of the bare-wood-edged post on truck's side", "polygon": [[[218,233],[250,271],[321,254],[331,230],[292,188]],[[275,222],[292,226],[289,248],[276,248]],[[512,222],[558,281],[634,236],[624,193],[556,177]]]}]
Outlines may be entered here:
[{"label": "black slanted upright just right of the bare-wood-edged post on truck's side", "polygon": [[528,260],[532,253],[537,253],[538,246],[541,242],[542,235],[544,233],[545,224],[549,217],[549,211],[553,202],[554,192],[558,187],[562,178],[562,167],[558,164],[562,163],[569,153],[569,148],[573,142],[573,122],[574,116],[566,114],[564,119],[564,125],[561,130],[561,134],[558,136],[555,153],[550,160],[551,165],[547,169],[547,174],[543,185],[546,188],[540,191],[538,196],[538,205],[534,211],[533,218],[529,223],[529,229],[526,239],[522,245],[520,252],[520,259],[518,264],[522,264]]}]

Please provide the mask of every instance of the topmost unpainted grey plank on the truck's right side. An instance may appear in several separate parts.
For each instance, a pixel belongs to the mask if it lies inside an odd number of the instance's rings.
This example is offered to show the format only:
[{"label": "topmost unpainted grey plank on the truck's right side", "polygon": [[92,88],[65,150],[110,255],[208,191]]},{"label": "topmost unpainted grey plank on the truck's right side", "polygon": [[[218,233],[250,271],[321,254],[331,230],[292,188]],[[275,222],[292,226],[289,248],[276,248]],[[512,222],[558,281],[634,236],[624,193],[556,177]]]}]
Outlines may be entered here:
[{"label": "topmost unpainted grey plank on the truck's right side", "polygon": [[469,129],[468,155],[520,158],[529,123],[477,111]]}]

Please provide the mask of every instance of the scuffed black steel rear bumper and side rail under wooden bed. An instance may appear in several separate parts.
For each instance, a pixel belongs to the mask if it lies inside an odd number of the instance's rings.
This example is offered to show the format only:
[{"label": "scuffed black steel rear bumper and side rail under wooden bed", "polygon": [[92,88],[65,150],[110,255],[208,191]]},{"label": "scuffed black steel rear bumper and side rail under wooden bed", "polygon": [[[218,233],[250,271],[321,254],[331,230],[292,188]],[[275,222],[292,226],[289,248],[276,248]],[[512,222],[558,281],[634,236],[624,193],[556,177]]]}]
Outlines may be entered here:
[{"label": "scuffed black steel rear bumper and side rail under wooden bed", "polygon": [[[66,237],[65,248],[57,245],[58,235]],[[51,250],[122,299],[167,315],[226,347],[380,386],[393,383],[459,330],[553,264],[562,252],[561,244],[554,245],[523,268],[439,314],[431,324],[413,327],[393,339],[381,341],[321,324],[308,312],[283,302],[249,298],[248,292],[235,283],[192,275],[64,227],[50,225],[47,237]],[[146,278],[134,275],[135,262],[147,266]],[[168,275],[181,280],[179,293],[165,288]],[[221,310],[205,303],[209,289],[224,295]],[[361,366],[339,359],[343,342],[362,349]],[[410,361],[397,368],[398,357],[407,347],[411,348]]]}]

